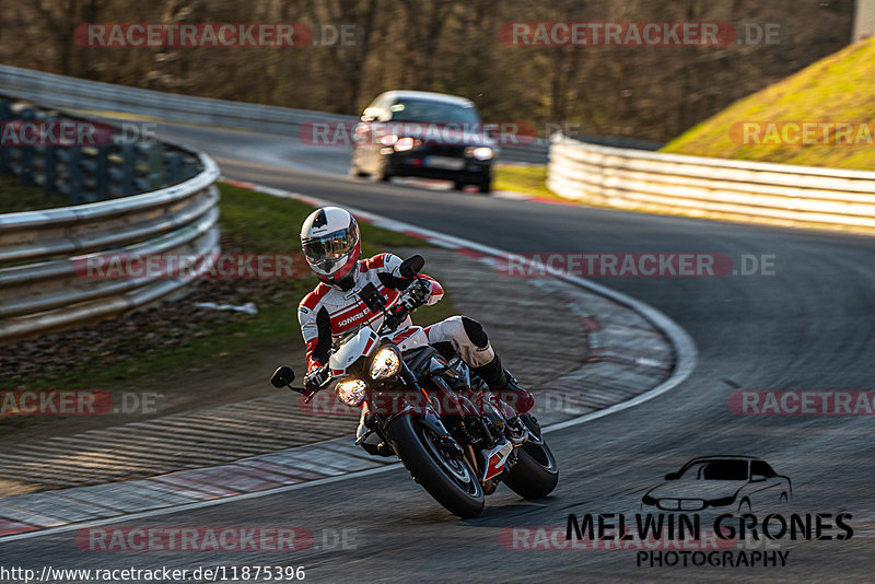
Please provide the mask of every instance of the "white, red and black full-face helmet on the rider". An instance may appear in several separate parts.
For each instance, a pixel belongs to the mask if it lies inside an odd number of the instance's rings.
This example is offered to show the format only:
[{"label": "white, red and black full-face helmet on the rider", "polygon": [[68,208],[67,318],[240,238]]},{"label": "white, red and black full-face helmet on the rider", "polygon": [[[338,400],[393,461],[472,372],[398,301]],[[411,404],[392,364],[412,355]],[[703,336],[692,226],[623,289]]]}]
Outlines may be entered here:
[{"label": "white, red and black full-face helmet on the rider", "polygon": [[301,227],[301,248],[319,280],[338,285],[346,276],[354,276],[361,254],[359,224],[340,207],[317,209]]}]

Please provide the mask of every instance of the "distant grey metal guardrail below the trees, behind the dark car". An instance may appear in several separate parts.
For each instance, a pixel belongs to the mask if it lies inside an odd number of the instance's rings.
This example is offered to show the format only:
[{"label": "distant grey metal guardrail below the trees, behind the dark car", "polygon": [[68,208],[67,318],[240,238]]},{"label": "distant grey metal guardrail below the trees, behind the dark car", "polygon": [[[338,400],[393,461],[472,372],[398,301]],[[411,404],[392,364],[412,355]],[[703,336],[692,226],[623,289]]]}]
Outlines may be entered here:
[{"label": "distant grey metal guardrail below the trees, behind the dark car", "polygon": [[[9,66],[0,66],[0,89],[52,107],[126,112],[283,136],[298,136],[301,126],[308,122],[352,124],[359,119],[308,109],[176,95]],[[547,140],[504,144],[501,147],[500,161],[546,164],[548,149]]]}]

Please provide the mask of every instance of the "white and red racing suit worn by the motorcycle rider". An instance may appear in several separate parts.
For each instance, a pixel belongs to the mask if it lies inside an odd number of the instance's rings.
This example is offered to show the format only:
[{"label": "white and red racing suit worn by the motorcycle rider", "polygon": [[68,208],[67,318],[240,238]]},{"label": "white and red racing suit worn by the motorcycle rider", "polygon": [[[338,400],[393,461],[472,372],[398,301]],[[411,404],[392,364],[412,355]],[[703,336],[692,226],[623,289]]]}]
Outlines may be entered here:
[{"label": "white and red racing suit worn by the motorcycle rider", "polygon": [[[401,258],[393,254],[380,254],[362,259],[353,268],[355,278],[349,290],[343,291],[320,282],[313,292],[304,296],[298,307],[298,319],[306,343],[308,373],[328,362],[332,342],[349,329],[362,324],[380,327],[384,318],[383,313],[371,312],[357,292],[373,283],[386,299],[386,306],[393,305],[411,281],[400,276],[400,265]],[[421,275],[421,278],[431,284],[431,293],[425,304],[431,305],[440,301],[444,294],[441,284],[429,276]],[[401,327],[410,324],[408,316]],[[499,365],[486,332],[480,324],[471,318],[452,316],[425,327],[424,330],[430,344],[438,348],[444,344],[445,349],[458,352],[471,367],[490,369],[488,365],[491,363]],[[500,366],[495,375],[503,376]]]}]

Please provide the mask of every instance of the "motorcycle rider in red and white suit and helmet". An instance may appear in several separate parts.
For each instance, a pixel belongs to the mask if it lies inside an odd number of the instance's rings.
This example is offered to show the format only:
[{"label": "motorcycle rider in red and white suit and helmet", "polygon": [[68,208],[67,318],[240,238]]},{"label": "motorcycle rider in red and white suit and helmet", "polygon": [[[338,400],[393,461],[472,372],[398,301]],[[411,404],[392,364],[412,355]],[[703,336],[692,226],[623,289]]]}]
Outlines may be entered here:
[{"label": "motorcycle rider in red and white suit and helmet", "polygon": [[[320,280],[298,307],[301,334],[306,343],[304,387],[311,392],[318,389],[328,377],[324,365],[337,338],[355,326],[369,324],[377,328],[383,322],[383,313],[371,312],[357,295],[362,287],[373,283],[386,299],[387,306],[402,299],[402,292],[406,297],[425,305],[443,296],[443,288],[431,277],[421,275],[419,282],[402,278],[398,256],[380,254],[361,259],[359,225],[352,214],[339,207],[323,207],[307,217],[301,227],[301,247]],[[410,324],[408,316],[401,326]],[[451,316],[424,330],[431,346],[445,355],[457,352],[490,390],[517,413],[526,413],[534,407],[535,397],[504,370],[480,323],[467,316]],[[362,410],[358,435],[364,432],[365,414]],[[372,436],[374,434],[369,437]],[[371,454],[387,454],[383,444],[365,442],[363,446]]]}]

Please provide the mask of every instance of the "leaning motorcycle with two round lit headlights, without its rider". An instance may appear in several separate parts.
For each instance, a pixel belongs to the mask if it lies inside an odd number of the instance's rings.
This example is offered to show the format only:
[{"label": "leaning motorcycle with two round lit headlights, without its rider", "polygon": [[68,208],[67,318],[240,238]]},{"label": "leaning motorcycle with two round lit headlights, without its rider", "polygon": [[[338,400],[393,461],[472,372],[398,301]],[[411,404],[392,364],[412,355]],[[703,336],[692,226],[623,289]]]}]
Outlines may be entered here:
[{"label": "leaning motorcycle with two round lit headlights, without its rider", "polygon": [[[401,264],[412,283],[390,306],[372,283],[357,292],[384,320],[335,342],[316,392],[335,384],[342,404],[364,405],[366,431],[355,444],[376,434],[382,451],[400,458],[413,480],[459,517],[479,515],[500,482],[525,499],[547,497],[559,467],[535,417],[517,416],[458,354],[447,359],[430,346],[422,327],[401,326],[422,304],[410,291],[420,285],[423,265],[419,255]],[[275,387],[312,399],[315,392],[292,387],[293,381],[288,366],[271,377]]]}]

